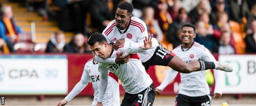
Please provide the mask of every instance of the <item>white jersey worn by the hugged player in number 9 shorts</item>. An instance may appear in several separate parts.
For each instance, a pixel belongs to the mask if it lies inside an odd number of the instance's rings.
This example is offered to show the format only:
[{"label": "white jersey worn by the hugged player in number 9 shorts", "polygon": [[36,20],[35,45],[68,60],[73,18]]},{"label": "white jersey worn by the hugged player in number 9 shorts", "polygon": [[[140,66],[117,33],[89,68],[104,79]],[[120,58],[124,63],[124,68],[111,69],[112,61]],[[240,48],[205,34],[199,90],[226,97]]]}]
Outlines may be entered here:
[{"label": "white jersey worn by the hugged player in number 9 shorts", "polygon": [[[123,83],[123,88],[127,93],[136,94],[147,87],[149,87],[153,81],[146,73],[144,66],[142,65],[137,53],[139,46],[135,42],[126,42],[119,46],[117,51],[112,50],[112,53],[109,58],[115,58],[120,52],[124,52],[123,55],[130,55],[130,61],[125,64],[105,64],[99,63],[99,71],[105,73],[105,70],[117,75],[117,77]],[[104,92],[104,91],[102,91]]]}]

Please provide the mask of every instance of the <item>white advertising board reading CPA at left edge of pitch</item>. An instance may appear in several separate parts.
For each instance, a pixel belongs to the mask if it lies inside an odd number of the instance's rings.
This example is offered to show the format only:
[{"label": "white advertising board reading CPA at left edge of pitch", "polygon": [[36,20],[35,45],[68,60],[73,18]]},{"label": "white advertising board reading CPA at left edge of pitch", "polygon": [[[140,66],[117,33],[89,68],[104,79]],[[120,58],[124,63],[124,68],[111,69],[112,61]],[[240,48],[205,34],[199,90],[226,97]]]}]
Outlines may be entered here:
[{"label": "white advertising board reading CPA at left edge of pitch", "polygon": [[0,55],[0,94],[66,94],[65,55]]}]

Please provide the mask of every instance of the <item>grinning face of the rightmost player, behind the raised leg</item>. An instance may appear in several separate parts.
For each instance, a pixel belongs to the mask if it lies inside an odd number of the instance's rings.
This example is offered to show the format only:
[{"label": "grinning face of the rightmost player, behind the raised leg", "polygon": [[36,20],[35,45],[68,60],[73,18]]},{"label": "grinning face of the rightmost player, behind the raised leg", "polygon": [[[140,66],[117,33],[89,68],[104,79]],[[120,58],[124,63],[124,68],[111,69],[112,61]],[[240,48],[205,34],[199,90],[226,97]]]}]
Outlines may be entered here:
[{"label": "grinning face of the rightmost player, behind the raised leg", "polygon": [[181,41],[183,44],[191,44],[194,41],[196,34],[192,27],[183,27],[181,31]]}]

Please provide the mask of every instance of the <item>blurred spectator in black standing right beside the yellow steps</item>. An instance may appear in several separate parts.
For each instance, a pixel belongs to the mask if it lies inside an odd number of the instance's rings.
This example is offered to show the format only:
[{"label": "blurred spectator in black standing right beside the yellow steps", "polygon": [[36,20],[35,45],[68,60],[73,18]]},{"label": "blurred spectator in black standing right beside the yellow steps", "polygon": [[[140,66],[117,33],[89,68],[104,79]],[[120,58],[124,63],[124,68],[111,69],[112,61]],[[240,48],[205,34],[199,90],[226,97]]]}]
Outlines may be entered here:
[{"label": "blurred spectator in black standing right beside the yellow steps", "polygon": [[67,5],[59,11],[59,28],[63,31],[82,32],[87,35],[86,14],[91,2],[92,0],[67,0]]}]

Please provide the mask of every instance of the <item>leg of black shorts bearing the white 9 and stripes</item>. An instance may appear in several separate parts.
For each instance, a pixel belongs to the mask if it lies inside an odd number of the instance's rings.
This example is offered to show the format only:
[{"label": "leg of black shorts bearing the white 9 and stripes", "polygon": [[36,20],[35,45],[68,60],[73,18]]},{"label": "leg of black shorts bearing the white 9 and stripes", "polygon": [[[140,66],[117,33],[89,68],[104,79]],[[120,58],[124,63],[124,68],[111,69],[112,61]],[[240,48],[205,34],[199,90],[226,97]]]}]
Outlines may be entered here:
[{"label": "leg of black shorts bearing the white 9 and stripes", "polygon": [[144,91],[137,93],[133,98],[132,106],[153,106],[155,100],[154,86],[151,84]]}]

